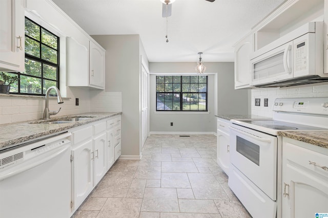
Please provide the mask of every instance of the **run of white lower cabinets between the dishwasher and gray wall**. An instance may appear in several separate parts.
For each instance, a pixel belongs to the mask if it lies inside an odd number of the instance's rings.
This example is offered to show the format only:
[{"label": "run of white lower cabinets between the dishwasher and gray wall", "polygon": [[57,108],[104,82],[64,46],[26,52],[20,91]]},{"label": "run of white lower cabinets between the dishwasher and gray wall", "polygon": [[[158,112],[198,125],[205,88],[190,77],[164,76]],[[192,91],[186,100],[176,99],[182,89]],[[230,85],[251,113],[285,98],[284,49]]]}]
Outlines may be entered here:
[{"label": "run of white lower cabinets between the dishwasher and gray wall", "polygon": [[120,115],[72,131],[72,214],[120,156],[120,145]]}]

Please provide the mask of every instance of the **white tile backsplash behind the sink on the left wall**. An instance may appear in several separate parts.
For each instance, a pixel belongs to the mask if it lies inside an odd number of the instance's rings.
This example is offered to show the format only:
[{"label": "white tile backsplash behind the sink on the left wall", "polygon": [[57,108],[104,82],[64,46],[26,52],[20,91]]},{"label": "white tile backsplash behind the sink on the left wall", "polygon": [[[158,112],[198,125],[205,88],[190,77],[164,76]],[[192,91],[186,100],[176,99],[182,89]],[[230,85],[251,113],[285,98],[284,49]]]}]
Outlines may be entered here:
[{"label": "white tile backsplash behind the sink on the left wall", "polygon": [[[60,112],[51,117],[88,112],[121,112],[121,93],[68,88],[67,96],[63,98],[63,104],[57,104],[57,98],[50,97],[50,111],[57,111],[61,107]],[[79,99],[78,106],[75,105],[75,98]],[[45,97],[0,95],[0,124],[41,119],[44,108]]]}]

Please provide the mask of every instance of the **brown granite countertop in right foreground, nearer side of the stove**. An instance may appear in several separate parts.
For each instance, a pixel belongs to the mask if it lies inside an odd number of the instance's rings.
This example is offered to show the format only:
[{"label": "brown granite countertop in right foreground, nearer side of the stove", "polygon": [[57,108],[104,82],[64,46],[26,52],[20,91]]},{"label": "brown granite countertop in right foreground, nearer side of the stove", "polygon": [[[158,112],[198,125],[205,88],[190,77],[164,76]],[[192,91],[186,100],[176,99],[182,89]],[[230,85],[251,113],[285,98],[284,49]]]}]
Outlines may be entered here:
[{"label": "brown granite countertop in right foreground, nearer side of the stove", "polygon": [[281,131],[278,136],[328,148],[328,131]]}]

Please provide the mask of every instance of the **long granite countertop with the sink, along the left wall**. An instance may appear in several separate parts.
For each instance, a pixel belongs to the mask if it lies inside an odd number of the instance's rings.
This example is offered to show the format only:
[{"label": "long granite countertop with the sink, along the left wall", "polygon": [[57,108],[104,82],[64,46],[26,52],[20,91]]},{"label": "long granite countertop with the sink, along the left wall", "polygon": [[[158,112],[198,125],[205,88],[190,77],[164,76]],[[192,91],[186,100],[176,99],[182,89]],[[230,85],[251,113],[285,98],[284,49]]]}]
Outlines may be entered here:
[{"label": "long granite countertop with the sink, along the left wall", "polygon": [[31,141],[32,139],[39,137],[65,132],[67,129],[110,118],[119,114],[121,114],[121,112],[84,113],[63,117],[54,117],[48,120],[49,122],[73,117],[91,117],[90,119],[84,121],[60,124],[43,123],[45,120],[30,120],[25,122],[2,124],[0,125],[0,150],[19,145],[23,142]]}]

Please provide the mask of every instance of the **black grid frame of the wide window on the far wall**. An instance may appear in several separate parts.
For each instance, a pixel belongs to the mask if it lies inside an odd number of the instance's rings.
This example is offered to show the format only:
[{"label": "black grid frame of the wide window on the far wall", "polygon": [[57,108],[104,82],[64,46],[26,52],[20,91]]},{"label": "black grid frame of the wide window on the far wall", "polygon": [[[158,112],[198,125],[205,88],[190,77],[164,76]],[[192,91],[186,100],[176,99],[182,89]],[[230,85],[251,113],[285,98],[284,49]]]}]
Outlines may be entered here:
[{"label": "black grid frame of the wide window on the far wall", "polygon": [[[164,82],[158,82],[158,77],[164,77]],[[191,80],[190,80],[190,84],[197,84],[198,85],[198,92],[191,92],[191,90],[189,90],[189,92],[183,92],[182,90],[182,85],[183,84],[188,84],[188,83],[185,83],[183,82],[183,77],[185,76],[198,76],[198,82],[197,83],[191,83]],[[206,83],[200,83],[199,82],[199,77],[202,76],[202,77],[206,77]],[[170,78],[171,77],[171,78]],[[177,83],[177,80],[175,80],[175,82],[173,82],[173,77],[177,78],[177,77],[180,77],[180,82]],[[166,79],[169,79],[169,80],[172,80],[172,86],[173,84],[174,85],[177,85],[177,84],[180,84],[180,88],[179,88],[179,92],[175,92],[175,90],[172,88],[172,92],[167,92],[166,90],[164,90],[164,92],[158,92],[158,85],[163,85],[165,86],[165,84],[168,84],[166,83]],[[208,112],[208,75],[156,75],[156,112]],[[170,84],[170,83],[169,83]],[[206,92],[200,92],[199,91],[199,85],[203,85],[203,84],[206,84]],[[165,89],[165,88],[164,88]],[[159,95],[166,95],[166,94],[172,94],[172,101],[166,101],[164,100],[161,101],[159,100]],[[196,101],[199,105],[199,95],[202,94],[204,96],[206,96],[206,106],[205,106],[205,109],[204,110],[199,110],[199,107],[198,107],[198,110],[191,110],[191,108],[189,108],[189,110],[183,110],[183,103],[186,103],[188,101],[183,101],[183,95],[184,94],[189,94],[190,96],[193,95],[193,94],[197,94],[198,95],[198,101]],[[174,108],[174,99],[173,99],[173,96],[174,95],[178,95],[179,96],[179,110],[173,110]],[[158,103],[161,102],[164,104],[164,109],[161,110],[159,107],[158,107]],[[171,110],[165,110],[165,107],[166,107],[166,102],[170,102],[170,104],[172,103],[172,108]],[[176,101],[178,102],[178,101]],[[189,103],[191,104],[192,102],[189,101]],[[177,103],[176,103],[177,104]]]}]

